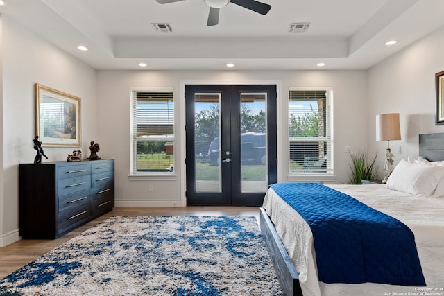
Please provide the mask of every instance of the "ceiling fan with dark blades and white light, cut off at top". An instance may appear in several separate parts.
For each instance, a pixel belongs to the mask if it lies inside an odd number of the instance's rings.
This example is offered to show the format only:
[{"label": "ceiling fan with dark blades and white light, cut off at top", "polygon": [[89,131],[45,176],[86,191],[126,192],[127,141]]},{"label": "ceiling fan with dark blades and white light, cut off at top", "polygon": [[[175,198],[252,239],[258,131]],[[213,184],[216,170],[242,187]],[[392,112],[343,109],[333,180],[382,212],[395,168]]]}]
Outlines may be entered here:
[{"label": "ceiling fan with dark blades and white light, cut off at top", "polygon": [[[173,3],[184,0],[156,0],[160,4]],[[214,26],[219,24],[219,8],[227,6],[228,3],[234,3],[254,12],[266,15],[271,9],[271,6],[255,0],[203,0],[207,6],[210,6],[210,13],[208,14],[207,26]]]}]

